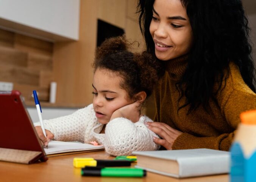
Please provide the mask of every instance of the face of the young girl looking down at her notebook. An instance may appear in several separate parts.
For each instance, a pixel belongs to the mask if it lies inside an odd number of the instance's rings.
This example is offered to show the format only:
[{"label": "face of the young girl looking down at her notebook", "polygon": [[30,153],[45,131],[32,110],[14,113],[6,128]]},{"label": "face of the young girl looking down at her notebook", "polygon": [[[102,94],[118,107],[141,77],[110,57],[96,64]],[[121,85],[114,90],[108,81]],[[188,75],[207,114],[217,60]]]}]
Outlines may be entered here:
[{"label": "face of the young girl looking down at her notebook", "polygon": [[96,69],[93,78],[93,108],[101,124],[107,124],[117,109],[133,103],[126,90],[120,88],[122,78],[108,69]]}]

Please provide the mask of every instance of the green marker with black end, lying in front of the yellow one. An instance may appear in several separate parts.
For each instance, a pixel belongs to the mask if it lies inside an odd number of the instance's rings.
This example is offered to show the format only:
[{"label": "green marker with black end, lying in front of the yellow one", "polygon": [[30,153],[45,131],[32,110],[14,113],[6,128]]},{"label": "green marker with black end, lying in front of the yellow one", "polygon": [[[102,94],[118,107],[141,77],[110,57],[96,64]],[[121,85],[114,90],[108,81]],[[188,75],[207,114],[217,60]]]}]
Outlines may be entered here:
[{"label": "green marker with black end, lying in front of the yellow one", "polygon": [[147,175],[147,171],[139,168],[85,167],[81,169],[81,175],[108,177],[144,177]]}]

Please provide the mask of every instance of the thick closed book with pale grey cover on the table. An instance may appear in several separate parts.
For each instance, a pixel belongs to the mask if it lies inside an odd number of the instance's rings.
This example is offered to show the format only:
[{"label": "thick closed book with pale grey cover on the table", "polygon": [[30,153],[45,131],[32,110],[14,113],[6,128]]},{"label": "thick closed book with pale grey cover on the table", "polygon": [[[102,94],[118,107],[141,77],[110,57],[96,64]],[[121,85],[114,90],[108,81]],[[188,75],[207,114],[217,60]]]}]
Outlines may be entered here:
[{"label": "thick closed book with pale grey cover on the table", "polygon": [[230,153],[206,148],[134,151],[137,168],[177,178],[229,173]]}]

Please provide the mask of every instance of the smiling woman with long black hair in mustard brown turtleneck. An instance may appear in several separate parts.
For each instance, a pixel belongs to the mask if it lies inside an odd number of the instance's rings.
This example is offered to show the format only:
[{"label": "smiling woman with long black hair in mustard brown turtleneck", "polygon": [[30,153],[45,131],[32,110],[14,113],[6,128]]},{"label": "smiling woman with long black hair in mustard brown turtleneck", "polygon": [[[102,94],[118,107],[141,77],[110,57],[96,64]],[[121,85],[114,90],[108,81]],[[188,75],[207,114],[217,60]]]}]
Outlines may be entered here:
[{"label": "smiling woman with long black hair in mustard brown turtleneck", "polygon": [[[240,0],[140,0],[147,51],[165,72],[146,125],[167,150],[229,150],[239,115],[256,109],[248,20]],[[127,114],[128,115],[128,114]]]}]

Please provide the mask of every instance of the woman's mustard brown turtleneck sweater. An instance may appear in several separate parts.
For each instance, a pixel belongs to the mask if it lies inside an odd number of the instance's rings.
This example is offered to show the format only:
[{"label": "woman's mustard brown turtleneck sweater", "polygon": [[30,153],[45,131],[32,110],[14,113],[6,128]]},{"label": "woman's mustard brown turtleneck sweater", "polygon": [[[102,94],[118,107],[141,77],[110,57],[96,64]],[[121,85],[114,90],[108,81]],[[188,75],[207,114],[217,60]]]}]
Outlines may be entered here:
[{"label": "woman's mustard brown turtleneck sweater", "polygon": [[[211,148],[227,151],[240,122],[240,113],[256,109],[256,94],[244,83],[236,64],[230,63],[225,88],[217,93],[217,102],[209,100],[210,114],[202,106],[189,115],[189,107],[179,110],[177,114],[179,92],[175,83],[185,72],[186,65],[187,56],[167,62],[165,74],[154,91],[155,121],[183,132],[172,149]],[[185,101],[183,97],[179,106]]]}]

